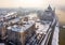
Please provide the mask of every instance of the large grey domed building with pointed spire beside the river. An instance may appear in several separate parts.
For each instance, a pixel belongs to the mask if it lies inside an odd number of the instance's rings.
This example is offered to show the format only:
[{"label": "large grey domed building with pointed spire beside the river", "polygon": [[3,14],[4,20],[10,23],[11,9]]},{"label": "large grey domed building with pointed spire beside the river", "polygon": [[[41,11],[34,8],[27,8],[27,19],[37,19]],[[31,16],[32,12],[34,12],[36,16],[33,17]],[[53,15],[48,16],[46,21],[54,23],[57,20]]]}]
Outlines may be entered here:
[{"label": "large grey domed building with pointed spire beside the river", "polygon": [[49,5],[48,9],[43,12],[40,19],[52,21],[54,18],[54,15],[55,15],[55,10],[52,10],[52,8]]}]

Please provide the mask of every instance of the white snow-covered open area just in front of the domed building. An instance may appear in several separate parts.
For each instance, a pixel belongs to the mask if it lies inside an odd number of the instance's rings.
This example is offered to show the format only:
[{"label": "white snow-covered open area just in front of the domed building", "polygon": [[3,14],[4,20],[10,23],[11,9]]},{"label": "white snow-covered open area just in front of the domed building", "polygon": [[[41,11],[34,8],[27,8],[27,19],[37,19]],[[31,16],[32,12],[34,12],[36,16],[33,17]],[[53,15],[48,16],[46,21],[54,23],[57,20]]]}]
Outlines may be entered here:
[{"label": "white snow-covered open area just in front of the domed building", "polygon": [[38,30],[36,31],[37,33],[44,33],[48,31],[50,25],[42,25],[41,22],[36,22],[36,27],[38,26]]}]

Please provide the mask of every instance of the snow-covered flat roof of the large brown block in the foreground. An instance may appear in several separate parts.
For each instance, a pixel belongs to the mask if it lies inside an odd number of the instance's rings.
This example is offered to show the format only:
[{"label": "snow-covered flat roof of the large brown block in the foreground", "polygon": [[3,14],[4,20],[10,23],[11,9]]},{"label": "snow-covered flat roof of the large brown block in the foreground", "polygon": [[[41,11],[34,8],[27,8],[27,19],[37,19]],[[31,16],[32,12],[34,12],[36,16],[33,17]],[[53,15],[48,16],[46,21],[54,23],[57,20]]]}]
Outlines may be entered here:
[{"label": "snow-covered flat roof of the large brown block in the foreground", "polygon": [[8,27],[8,30],[12,30],[12,31],[16,31],[16,32],[24,32],[25,30],[30,28],[34,24],[35,22],[32,22],[32,21],[27,21],[27,24],[23,25],[23,26],[17,26],[17,25],[10,26],[10,27]]}]

